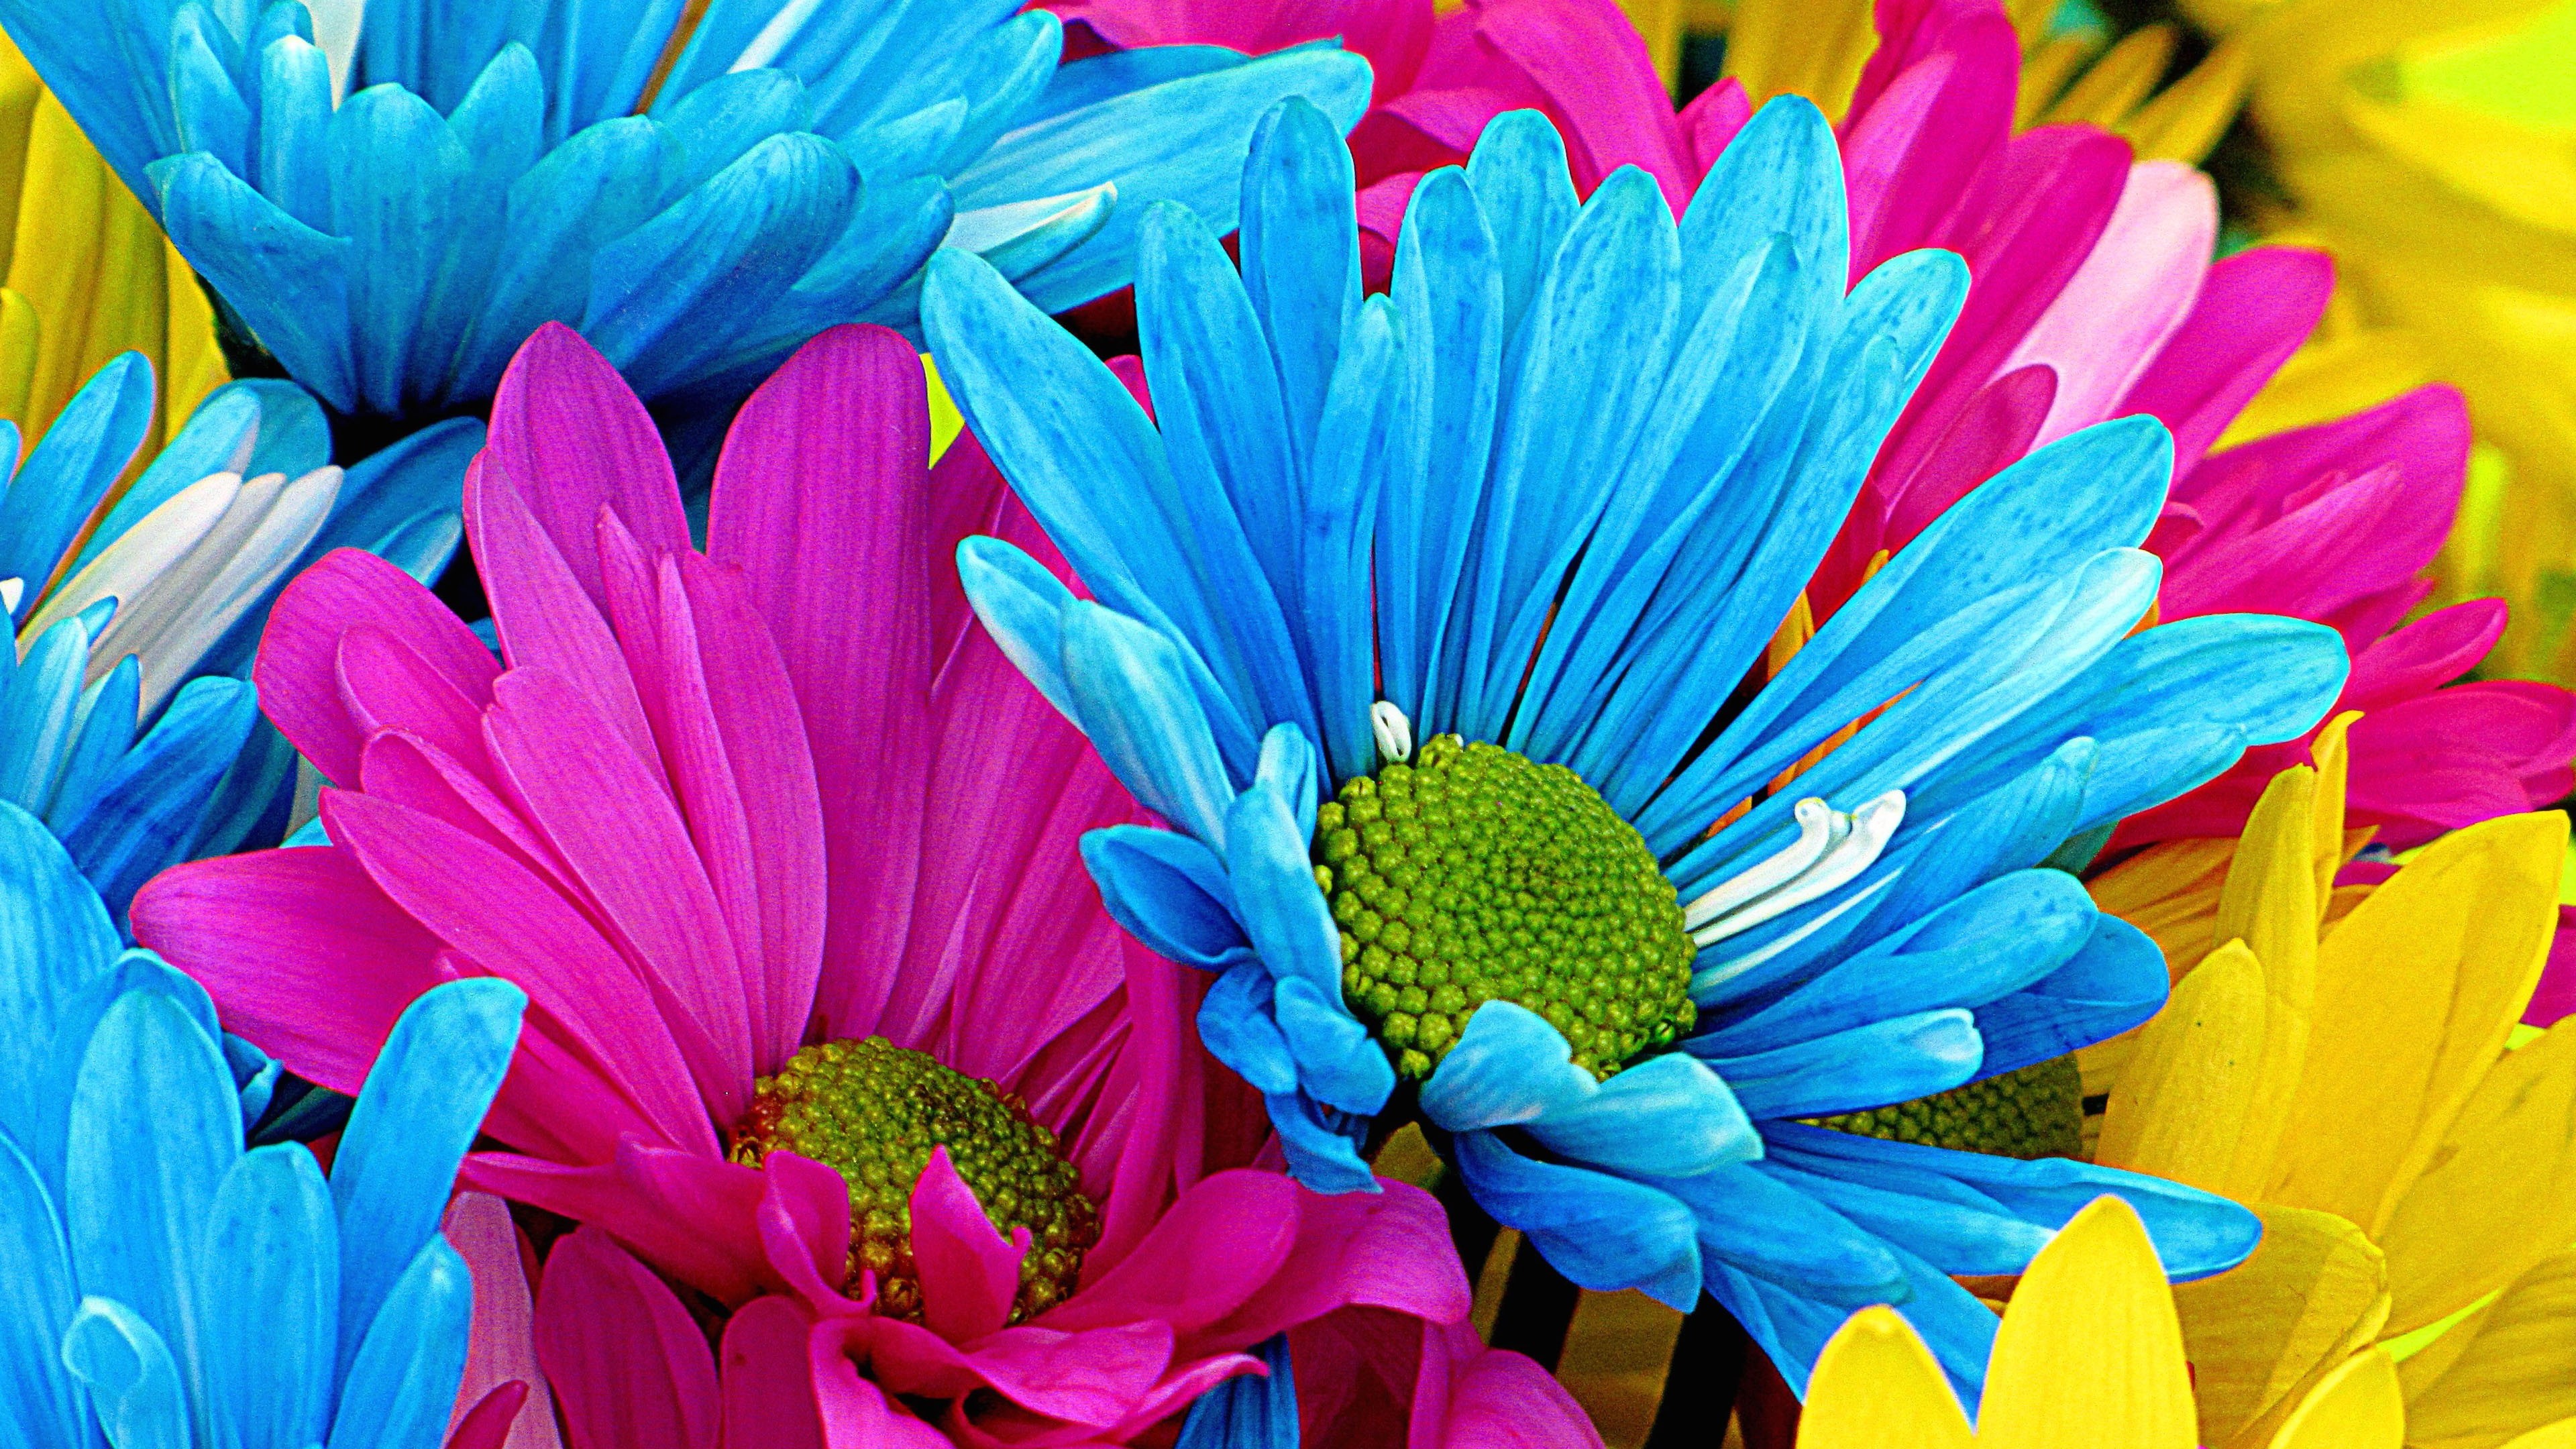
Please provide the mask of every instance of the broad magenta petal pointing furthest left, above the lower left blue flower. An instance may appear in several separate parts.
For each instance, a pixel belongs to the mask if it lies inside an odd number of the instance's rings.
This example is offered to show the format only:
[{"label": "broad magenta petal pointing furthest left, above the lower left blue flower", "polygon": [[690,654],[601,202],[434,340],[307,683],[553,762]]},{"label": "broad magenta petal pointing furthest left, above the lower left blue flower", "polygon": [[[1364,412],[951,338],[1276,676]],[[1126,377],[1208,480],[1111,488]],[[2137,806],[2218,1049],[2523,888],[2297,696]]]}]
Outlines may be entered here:
[{"label": "broad magenta petal pointing furthest left, above the lower left blue flower", "polygon": [[227,1029],[340,1093],[440,980],[438,938],[343,848],[173,866],[134,897],[134,936],[204,982]]}]

